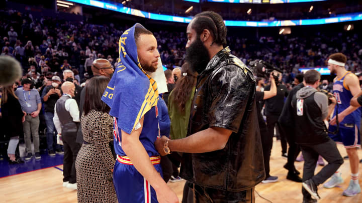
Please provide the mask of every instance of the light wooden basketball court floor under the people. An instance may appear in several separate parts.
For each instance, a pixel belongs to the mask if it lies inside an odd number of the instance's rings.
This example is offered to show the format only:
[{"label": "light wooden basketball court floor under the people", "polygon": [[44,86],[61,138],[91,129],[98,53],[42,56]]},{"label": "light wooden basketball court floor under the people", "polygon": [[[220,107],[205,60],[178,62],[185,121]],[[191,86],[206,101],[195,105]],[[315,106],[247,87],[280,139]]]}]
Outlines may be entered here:
[{"label": "light wooden basketball court floor under the people", "polygon": [[[342,145],[338,145],[342,156],[346,155]],[[362,158],[362,150],[358,150],[359,158]],[[281,144],[274,141],[272,157],[270,158],[270,174],[279,176],[275,183],[260,183],[255,190],[264,198],[272,202],[302,202],[302,184],[286,179],[287,170],[283,168],[287,159],[281,156]],[[62,168],[62,166],[58,166]],[[303,162],[296,162],[296,168],[302,172]],[[316,172],[322,167],[318,166]],[[359,182],[362,183],[362,164],[359,164]],[[350,180],[349,161],[345,160],[340,168],[344,184],[340,188],[331,189],[318,187],[319,195],[322,197],[318,202],[362,202],[362,194],[353,197],[342,196],[343,190],[348,186]],[[167,183],[182,199],[185,181]],[[255,193],[256,202],[269,202]],[[0,178],[0,202],[77,202],[76,191],[62,187],[62,171],[54,167],[27,172],[23,174]]]}]

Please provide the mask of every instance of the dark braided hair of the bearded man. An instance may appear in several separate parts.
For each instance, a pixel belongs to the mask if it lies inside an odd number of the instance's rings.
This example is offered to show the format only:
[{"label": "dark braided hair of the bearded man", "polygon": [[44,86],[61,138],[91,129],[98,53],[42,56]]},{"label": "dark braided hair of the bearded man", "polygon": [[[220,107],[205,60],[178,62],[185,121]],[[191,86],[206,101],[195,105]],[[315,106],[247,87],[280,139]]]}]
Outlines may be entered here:
[{"label": "dark braided hair of the bearded man", "polygon": [[219,14],[211,11],[197,14],[192,28],[196,31],[198,36],[201,35],[204,29],[209,30],[214,37],[214,42],[226,47],[227,29]]}]

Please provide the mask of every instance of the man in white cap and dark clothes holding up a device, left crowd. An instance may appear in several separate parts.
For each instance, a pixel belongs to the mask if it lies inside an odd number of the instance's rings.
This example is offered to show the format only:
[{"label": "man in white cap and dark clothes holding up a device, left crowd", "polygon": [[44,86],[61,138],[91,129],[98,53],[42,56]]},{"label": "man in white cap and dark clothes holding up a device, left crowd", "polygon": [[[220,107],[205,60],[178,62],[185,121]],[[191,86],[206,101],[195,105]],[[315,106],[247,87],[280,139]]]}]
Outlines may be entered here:
[{"label": "man in white cap and dark clothes holding up a device, left crowd", "polygon": [[55,136],[57,131],[54,126],[54,106],[57,100],[61,97],[62,93],[60,90],[61,80],[58,76],[52,77],[52,83],[46,86],[42,92],[42,99],[44,101],[44,117],[47,126],[47,148],[50,156],[55,156],[55,153],[63,154],[63,150],[59,144],[56,143]]}]

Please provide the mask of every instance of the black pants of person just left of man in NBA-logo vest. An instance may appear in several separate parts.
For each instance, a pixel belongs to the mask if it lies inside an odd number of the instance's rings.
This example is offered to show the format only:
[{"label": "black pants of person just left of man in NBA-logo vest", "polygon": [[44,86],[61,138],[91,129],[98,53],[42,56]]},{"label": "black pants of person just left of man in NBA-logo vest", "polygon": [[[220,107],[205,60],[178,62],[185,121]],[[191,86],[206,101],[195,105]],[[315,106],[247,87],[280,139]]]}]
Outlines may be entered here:
[{"label": "black pants of person just left of man in NBA-logo vest", "polygon": [[300,147],[295,142],[295,135],[294,135],[293,129],[291,129],[288,126],[283,126],[280,124],[279,124],[279,129],[280,129],[281,136],[282,136],[282,134],[284,134],[283,136],[287,139],[287,142],[289,144],[288,161],[286,164],[287,169],[289,170],[289,172],[294,172],[294,168],[295,168],[294,162],[300,152]]}]

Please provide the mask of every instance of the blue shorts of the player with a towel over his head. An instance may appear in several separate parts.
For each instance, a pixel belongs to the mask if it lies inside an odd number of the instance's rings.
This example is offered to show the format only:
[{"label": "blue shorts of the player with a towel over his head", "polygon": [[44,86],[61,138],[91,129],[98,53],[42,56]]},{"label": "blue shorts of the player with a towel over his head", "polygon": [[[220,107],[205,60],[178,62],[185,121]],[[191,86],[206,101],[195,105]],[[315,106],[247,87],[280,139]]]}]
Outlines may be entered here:
[{"label": "blue shorts of the player with a towel over his head", "polygon": [[[161,164],[153,165],[162,176]],[[127,163],[116,160],[113,171],[113,183],[119,203],[157,203],[155,190],[137,169]]]}]

